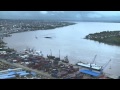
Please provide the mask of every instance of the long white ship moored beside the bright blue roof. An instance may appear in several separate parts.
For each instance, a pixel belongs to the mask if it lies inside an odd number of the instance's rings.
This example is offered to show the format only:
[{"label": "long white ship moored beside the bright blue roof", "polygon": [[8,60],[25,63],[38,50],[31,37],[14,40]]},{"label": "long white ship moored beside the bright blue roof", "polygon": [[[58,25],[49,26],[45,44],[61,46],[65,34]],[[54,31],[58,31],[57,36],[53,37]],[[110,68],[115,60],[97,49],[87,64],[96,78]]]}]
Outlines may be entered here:
[{"label": "long white ship moored beside the bright blue roof", "polygon": [[97,70],[97,71],[101,71],[102,70],[102,66],[98,66],[96,64],[91,64],[91,63],[83,63],[83,62],[78,62],[76,64],[77,66],[82,66],[82,67],[85,67],[85,68],[91,68],[91,69],[94,69],[94,70]]}]

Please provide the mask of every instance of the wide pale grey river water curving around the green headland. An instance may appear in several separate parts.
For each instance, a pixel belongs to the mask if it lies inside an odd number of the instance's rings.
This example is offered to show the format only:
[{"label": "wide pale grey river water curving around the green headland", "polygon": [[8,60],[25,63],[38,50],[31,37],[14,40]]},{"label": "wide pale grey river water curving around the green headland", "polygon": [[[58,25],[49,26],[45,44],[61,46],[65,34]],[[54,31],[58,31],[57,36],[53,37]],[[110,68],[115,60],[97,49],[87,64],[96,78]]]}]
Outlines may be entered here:
[{"label": "wide pale grey river water curving around the green headland", "polygon": [[[104,65],[111,59],[104,72],[120,75],[119,46],[83,39],[89,33],[107,30],[120,30],[120,23],[77,22],[75,25],[53,30],[15,33],[11,37],[5,37],[4,41],[8,43],[7,46],[18,51],[26,48],[42,51],[45,57],[50,54],[50,49],[55,56],[59,56],[60,50],[60,57],[63,59],[68,55],[72,64],[78,61],[92,62],[95,55],[97,55],[95,63],[98,65]],[[52,39],[44,37],[52,37]]]}]

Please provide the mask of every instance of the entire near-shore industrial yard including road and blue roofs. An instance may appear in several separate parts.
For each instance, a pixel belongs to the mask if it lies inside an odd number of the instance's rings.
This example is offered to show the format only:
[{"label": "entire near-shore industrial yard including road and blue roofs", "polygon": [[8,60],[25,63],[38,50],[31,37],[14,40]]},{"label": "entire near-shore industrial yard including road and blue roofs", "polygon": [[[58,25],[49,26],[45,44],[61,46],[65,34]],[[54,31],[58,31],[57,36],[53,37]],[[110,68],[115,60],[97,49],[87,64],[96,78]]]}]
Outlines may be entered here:
[{"label": "entire near-shore industrial yard including road and blue roofs", "polygon": [[6,52],[0,58],[1,79],[109,79],[104,73],[70,64],[67,56],[64,60],[52,55],[45,58],[32,49]]}]

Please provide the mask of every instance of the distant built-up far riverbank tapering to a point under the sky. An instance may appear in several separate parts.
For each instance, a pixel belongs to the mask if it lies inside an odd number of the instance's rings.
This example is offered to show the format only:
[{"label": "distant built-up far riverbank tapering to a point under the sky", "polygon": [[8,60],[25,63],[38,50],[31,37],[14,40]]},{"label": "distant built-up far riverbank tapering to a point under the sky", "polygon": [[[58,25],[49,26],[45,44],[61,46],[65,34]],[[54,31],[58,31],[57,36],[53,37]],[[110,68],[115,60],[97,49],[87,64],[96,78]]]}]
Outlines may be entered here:
[{"label": "distant built-up far riverbank tapering to a point under the sky", "polygon": [[50,30],[59,27],[74,25],[72,22],[61,21],[40,21],[40,20],[0,20],[0,29],[2,36],[9,37],[12,33],[36,31],[36,30]]}]

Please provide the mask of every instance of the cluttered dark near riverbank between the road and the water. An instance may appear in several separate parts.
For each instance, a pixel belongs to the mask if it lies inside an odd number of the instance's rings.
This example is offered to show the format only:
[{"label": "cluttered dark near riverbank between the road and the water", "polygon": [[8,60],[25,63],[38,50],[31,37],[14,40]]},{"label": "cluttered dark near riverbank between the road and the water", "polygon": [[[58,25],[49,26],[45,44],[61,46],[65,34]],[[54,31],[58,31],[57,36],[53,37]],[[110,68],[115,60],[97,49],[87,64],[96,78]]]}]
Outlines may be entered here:
[{"label": "cluttered dark near riverbank between the road and the water", "polygon": [[33,50],[0,54],[0,61],[11,66],[34,71],[49,79],[109,79],[104,76],[104,73],[101,73],[98,77],[81,73],[80,70],[85,68],[63,62],[63,60],[55,56],[54,58],[51,58],[51,56],[45,58],[42,52],[37,51],[36,53]]}]

